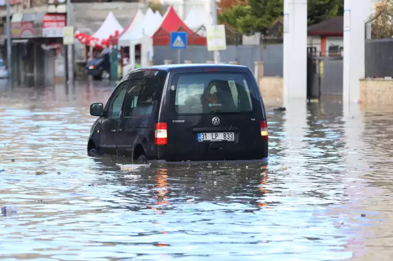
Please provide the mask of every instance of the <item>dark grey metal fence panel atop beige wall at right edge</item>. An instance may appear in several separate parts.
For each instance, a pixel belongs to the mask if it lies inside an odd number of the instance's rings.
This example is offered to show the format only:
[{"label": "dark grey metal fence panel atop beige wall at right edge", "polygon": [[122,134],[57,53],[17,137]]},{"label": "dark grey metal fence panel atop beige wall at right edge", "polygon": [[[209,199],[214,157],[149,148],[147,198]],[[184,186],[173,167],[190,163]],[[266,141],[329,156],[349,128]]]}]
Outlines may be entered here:
[{"label": "dark grey metal fence panel atop beige wall at right edge", "polygon": [[393,76],[393,39],[365,40],[365,77]]}]

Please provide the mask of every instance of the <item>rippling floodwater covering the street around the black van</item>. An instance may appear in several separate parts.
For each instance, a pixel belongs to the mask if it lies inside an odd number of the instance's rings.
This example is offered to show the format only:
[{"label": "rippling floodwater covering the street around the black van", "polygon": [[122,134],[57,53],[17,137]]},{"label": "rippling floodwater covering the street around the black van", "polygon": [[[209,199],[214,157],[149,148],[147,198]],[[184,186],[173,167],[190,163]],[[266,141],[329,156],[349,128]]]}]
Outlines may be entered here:
[{"label": "rippling floodwater covering the street around the black van", "polygon": [[86,154],[113,88],[0,82],[1,259],[392,260],[389,109],[267,107],[267,166],[125,171]]}]

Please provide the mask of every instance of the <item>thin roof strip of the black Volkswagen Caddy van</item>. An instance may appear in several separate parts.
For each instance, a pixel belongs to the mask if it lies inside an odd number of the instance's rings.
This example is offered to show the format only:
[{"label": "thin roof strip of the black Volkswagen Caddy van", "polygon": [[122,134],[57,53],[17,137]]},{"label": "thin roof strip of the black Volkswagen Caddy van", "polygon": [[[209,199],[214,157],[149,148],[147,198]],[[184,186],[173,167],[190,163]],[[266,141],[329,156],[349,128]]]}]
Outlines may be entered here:
[{"label": "thin roof strip of the black Volkswagen Caddy van", "polygon": [[168,65],[155,65],[149,67],[142,67],[135,71],[146,71],[146,70],[159,70],[159,71],[205,71],[218,70],[218,71],[237,71],[237,72],[249,72],[249,68],[243,65],[232,65],[232,64],[168,64]]}]

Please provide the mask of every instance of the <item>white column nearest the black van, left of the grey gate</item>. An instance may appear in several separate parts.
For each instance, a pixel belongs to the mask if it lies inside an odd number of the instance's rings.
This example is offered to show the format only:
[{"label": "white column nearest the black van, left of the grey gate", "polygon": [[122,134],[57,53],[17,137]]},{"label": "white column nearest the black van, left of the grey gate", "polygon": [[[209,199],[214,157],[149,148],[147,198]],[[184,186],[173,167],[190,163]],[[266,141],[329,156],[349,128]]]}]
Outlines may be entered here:
[{"label": "white column nearest the black van, left of the grey gate", "polygon": [[307,99],[307,0],[284,0],[283,98]]}]

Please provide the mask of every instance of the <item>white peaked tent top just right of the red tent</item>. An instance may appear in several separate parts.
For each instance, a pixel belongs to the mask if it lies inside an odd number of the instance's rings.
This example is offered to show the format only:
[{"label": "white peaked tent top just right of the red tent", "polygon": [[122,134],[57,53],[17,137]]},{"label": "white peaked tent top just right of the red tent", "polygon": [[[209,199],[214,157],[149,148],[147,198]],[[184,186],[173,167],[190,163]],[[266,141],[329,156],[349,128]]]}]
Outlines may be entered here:
[{"label": "white peaked tent top just right of the red tent", "polygon": [[[204,8],[197,9],[193,7],[187,18],[184,20],[184,24],[186,24],[191,30],[197,31],[202,26],[206,28],[207,26],[212,25],[213,18]],[[197,34],[206,37],[206,30],[198,30]]]}]

